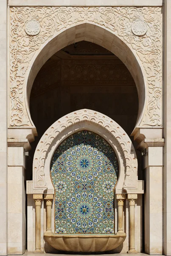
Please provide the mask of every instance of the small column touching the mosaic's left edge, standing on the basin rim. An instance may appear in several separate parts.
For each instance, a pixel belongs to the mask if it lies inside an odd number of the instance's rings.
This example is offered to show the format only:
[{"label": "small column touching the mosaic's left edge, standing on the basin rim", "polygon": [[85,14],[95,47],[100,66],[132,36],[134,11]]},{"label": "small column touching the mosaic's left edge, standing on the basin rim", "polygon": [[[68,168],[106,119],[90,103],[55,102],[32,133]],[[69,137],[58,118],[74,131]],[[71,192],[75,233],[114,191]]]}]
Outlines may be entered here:
[{"label": "small column touching the mosaic's left edge, standing on the basin rim", "polygon": [[46,201],[46,233],[52,233],[52,200],[53,195],[44,195]]}]

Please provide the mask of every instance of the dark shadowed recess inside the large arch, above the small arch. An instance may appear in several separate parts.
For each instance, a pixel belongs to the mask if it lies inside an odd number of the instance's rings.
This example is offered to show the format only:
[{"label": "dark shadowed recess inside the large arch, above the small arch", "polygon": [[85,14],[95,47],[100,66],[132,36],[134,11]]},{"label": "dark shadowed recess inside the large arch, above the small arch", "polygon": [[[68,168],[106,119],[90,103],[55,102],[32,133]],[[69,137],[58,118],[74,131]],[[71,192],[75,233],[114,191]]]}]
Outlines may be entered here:
[{"label": "dark shadowed recess inside the large arch, above the small arch", "polygon": [[104,113],[127,134],[135,127],[138,95],[129,70],[112,52],[87,41],[56,52],[36,76],[30,112],[38,137],[27,161],[30,176],[34,151],[44,132],[60,117],[82,108]]}]

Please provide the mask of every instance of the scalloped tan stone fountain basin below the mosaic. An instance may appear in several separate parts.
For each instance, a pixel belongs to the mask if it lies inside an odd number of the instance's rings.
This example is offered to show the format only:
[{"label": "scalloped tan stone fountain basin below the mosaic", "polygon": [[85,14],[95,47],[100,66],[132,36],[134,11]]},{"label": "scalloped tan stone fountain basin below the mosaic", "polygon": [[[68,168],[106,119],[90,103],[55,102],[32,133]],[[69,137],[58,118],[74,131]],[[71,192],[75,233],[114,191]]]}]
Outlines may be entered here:
[{"label": "scalloped tan stone fountain basin below the mosaic", "polygon": [[45,241],[56,250],[73,252],[104,252],[117,248],[125,240],[120,234],[45,234]]}]

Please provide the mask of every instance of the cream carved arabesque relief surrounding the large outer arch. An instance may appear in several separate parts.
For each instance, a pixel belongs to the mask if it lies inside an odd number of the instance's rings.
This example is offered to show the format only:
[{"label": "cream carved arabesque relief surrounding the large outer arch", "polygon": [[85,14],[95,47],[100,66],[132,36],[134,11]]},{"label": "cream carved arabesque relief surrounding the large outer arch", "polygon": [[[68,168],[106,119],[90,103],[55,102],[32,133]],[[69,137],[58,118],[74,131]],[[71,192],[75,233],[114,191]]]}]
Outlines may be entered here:
[{"label": "cream carved arabesque relief surrounding the large outer arch", "polygon": [[[29,20],[40,32],[28,35]],[[132,33],[141,20],[143,32]],[[25,107],[26,71],[45,41],[64,28],[93,23],[109,29],[134,50],[146,72],[146,109],[140,126],[162,125],[162,9],[160,7],[12,7],[10,9],[10,126],[32,126]],[[147,26],[147,31],[145,26]],[[141,29],[141,30],[142,30]],[[146,33],[145,33],[146,32]],[[36,34],[36,33],[35,33]],[[140,34],[140,36],[138,36]]]}]

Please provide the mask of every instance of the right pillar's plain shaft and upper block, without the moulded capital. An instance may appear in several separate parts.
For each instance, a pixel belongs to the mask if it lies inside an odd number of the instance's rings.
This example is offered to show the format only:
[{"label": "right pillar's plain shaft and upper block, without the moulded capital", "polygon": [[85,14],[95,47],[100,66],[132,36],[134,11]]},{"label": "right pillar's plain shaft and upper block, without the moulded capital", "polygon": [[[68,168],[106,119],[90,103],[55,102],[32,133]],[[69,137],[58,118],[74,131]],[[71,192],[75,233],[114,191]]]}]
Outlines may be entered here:
[{"label": "right pillar's plain shaft and upper block, without the moulded capital", "polygon": [[[145,252],[163,253],[163,147],[153,143],[144,159],[144,236]],[[163,143],[161,143],[163,145]]]}]

